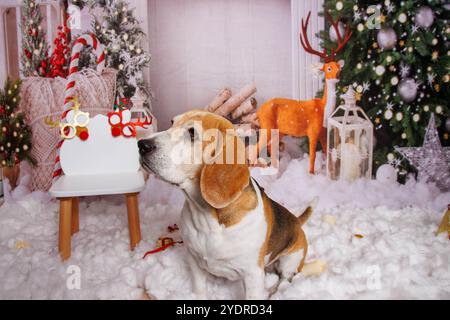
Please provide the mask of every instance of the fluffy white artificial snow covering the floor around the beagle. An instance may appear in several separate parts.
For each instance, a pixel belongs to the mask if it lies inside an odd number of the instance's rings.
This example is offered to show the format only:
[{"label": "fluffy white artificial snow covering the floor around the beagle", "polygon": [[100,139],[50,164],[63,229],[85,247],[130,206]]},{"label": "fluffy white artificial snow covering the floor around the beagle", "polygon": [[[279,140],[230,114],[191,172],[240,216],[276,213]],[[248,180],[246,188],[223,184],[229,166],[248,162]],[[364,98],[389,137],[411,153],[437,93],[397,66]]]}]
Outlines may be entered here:
[{"label": "fluffy white artificial snow covering the floor around the beagle", "polygon": [[[288,208],[320,197],[304,226],[307,261],[323,261],[327,269],[281,283],[273,299],[450,299],[450,243],[444,234],[435,236],[450,193],[413,180],[331,183],[323,173],[310,176],[308,165],[286,154],[277,175],[252,171]],[[160,236],[179,239],[167,232],[184,201],[176,188],[150,178],[139,201],[143,241],[134,252],[123,199],[83,199],[80,231],[64,263],[57,250],[57,202],[24,187],[6,198],[0,207],[0,299],[193,298],[183,245],[142,259]],[[79,289],[70,285],[77,272]],[[267,287],[276,282],[276,275],[267,277]],[[207,288],[210,299],[243,297],[239,282],[209,276]]]}]

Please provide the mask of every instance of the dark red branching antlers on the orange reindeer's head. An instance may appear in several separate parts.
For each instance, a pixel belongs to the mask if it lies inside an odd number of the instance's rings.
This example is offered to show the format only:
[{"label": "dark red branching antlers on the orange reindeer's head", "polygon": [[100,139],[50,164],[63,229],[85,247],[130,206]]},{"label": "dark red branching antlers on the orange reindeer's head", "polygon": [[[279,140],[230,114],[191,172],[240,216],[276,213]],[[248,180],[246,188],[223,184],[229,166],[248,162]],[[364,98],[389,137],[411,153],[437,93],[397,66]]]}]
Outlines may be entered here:
[{"label": "dark red branching antlers on the orange reindeer's head", "polygon": [[302,18],[302,33],[300,34],[300,42],[302,44],[303,49],[305,49],[306,52],[309,52],[311,54],[319,56],[320,58],[324,59],[325,62],[330,62],[335,59],[336,55],[347,44],[348,40],[350,39],[350,37],[352,35],[352,32],[350,31],[350,25],[347,24],[345,36],[344,36],[344,39],[342,39],[341,33],[339,32],[339,21],[341,20],[341,18],[338,17],[338,19],[336,21],[334,21],[328,11],[325,12],[325,16],[326,16],[327,20],[333,26],[334,30],[336,31],[337,40],[338,40],[337,48],[331,49],[331,53],[327,54],[326,48],[324,48],[323,51],[320,52],[311,47],[311,44],[309,43],[309,40],[308,40],[308,24],[309,24],[309,18],[311,17],[311,11],[308,13],[308,16],[306,17],[306,23],[303,22],[303,18]]}]

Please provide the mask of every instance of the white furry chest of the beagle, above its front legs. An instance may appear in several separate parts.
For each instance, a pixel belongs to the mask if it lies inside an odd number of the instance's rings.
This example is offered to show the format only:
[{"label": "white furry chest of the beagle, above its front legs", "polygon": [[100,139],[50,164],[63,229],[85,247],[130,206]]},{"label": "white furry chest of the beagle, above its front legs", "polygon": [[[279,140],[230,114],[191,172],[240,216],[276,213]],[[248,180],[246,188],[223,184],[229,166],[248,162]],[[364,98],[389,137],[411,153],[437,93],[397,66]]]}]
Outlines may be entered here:
[{"label": "white furry chest of the beagle, above its front legs", "polygon": [[238,280],[247,268],[256,266],[267,228],[260,204],[228,228],[220,225],[212,212],[195,209],[189,201],[185,203],[181,232],[187,249],[202,269]]}]

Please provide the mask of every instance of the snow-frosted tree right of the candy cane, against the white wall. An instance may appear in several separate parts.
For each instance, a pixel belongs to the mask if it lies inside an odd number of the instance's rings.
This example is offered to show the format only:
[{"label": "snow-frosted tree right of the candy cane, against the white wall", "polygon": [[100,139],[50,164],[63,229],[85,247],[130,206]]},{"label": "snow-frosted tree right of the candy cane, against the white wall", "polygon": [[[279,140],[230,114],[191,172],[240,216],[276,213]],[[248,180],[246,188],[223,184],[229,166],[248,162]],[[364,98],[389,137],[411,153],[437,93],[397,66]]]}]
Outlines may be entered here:
[{"label": "snow-frosted tree right of the candy cane, against the white wall", "polygon": [[[134,17],[133,9],[125,0],[74,0],[72,4],[82,7],[101,8],[100,16],[94,15],[93,32],[106,46],[106,66],[118,70],[117,91],[119,96],[130,98],[136,88],[146,91],[142,70],[148,66],[150,55],[142,48],[145,33]],[[94,67],[93,58],[80,59],[81,67]],[[88,60],[88,62],[87,62]]]}]

